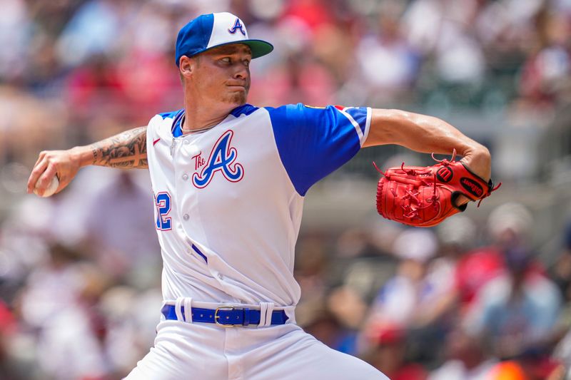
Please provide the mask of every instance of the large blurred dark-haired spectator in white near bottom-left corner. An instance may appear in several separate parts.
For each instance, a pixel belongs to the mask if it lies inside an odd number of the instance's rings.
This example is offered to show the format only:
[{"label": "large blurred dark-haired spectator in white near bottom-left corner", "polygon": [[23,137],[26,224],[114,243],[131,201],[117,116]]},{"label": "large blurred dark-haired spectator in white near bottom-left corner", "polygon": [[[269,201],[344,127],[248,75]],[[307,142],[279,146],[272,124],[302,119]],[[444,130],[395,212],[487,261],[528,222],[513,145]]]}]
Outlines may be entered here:
[{"label": "large blurred dark-haired spectator in white near bottom-left corner", "polygon": [[89,280],[101,289],[105,276],[88,279],[77,257],[62,245],[51,247],[49,261],[32,272],[22,292],[22,319],[37,331],[36,355],[47,376],[103,379],[108,369],[84,294]]}]

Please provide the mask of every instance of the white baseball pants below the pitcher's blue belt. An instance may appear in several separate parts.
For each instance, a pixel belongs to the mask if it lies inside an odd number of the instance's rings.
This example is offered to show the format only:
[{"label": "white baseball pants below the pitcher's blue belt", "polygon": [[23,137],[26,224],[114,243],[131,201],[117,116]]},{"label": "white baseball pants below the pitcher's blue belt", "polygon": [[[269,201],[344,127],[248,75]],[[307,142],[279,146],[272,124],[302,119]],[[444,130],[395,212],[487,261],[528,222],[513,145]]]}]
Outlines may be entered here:
[{"label": "white baseball pants below the pitcher's blue belt", "polygon": [[388,380],[388,377],[365,361],[330,349],[295,323],[225,328],[201,322],[161,320],[154,347],[126,379]]}]

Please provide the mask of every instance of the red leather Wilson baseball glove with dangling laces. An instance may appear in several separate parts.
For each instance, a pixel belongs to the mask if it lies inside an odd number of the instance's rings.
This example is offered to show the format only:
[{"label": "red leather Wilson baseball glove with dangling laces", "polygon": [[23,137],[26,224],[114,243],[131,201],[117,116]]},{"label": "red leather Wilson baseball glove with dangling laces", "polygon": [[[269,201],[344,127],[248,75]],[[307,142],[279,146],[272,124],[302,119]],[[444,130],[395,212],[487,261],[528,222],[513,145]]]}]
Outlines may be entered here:
[{"label": "red leather Wilson baseball glove with dangling laces", "polygon": [[492,180],[486,182],[470,172],[463,163],[454,160],[455,155],[456,151],[450,161],[435,159],[438,164],[433,166],[403,163],[400,168],[389,168],[384,173],[375,165],[383,175],[377,187],[379,214],[405,225],[432,227],[466,209],[467,205],[455,204],[460,195],[481,202],[500,187],[501,183],[494,188]]}]

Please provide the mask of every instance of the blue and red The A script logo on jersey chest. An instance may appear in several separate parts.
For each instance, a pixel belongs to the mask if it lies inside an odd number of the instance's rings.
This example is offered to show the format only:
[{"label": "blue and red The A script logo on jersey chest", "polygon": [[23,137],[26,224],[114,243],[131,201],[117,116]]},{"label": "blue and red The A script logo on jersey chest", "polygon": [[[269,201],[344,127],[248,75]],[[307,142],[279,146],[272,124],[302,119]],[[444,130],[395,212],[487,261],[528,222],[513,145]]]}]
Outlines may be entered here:
[{"label": "blue and red The A script logo on jersey chest", "polygon": [[192,183],[196,188],[206,188],[215,175],[223,175],[230,182],[238,182],[244,177],[244,168],[236,162],[238,150],[231,146],[233,130],[227,130],[214,143],[208,159],[202,153],[192,157],[196,173],[192,176]]}]

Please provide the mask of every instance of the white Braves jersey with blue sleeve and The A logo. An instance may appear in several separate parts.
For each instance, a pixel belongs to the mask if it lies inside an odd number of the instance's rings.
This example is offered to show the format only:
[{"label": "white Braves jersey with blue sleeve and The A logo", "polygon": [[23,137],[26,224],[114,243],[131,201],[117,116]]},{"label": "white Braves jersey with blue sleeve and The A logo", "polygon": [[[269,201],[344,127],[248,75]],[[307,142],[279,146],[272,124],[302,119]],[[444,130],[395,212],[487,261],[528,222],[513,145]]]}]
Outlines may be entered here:
[{"label": "white Braves jersey with blue sleeve and The A logo", "polygon": [[148,124],[163,297],[298,303],[293,278],[303,198],[365,142],[370,108],[240,106],[202,133],[184,110]]}]

